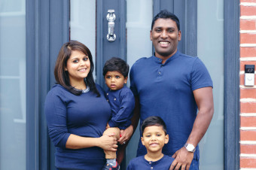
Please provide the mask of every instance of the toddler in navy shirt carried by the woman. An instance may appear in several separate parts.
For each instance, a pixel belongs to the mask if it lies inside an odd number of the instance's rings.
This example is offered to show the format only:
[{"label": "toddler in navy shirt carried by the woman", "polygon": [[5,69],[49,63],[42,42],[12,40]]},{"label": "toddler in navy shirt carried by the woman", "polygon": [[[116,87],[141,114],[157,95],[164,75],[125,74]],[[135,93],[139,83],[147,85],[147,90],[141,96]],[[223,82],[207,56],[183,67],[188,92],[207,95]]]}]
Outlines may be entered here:
[{"label": "toddler in navy shirt carried by the woman", "polygon": [[[117,139],[123,135],[123,130],[130,126],[130,119],[133,117],[133,109],[135,107],[132,91],[124,86],[127,83],[128,73],[129,65],[123,59],[113,57],[105,62],[103,75],[108,86],[106,95],[111,107],[111,120],[108,121],[103,135],[114,132],[117,135]],[[119,169],[116,161],[116,152],[104,151],[107,162],[103,169]]]}]

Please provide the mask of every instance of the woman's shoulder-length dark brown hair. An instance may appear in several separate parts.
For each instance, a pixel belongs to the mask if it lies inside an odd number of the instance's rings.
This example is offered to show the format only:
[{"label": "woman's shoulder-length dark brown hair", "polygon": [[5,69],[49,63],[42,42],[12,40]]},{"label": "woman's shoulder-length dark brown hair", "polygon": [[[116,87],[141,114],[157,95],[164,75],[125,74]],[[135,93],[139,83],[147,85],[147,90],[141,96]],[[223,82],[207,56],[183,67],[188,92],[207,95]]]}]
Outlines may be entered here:
[{"label": "woman's shoulder-length dark brown hair", "polygon": [[100,96],[99,91],[96,89],[96,84],[93,80],[93,56],[90,53],[90,50],[79,41],[69,41],[62,45],[59,50],[58,58],[56,59],[56,64],[54,68],[54,76],[56,83],[62,85],[71,93],[79,96],[82,93],[82,90],[75,90],[74,87],[70,85],[69,72],[65,71],[67,67],[67,61],[72,54],[72,51],[78,50],[88,56],[90,60],[90,71],[86,77],[87,86],[90,87],[90,90],[93,93],[96,93],[97,96]]}]

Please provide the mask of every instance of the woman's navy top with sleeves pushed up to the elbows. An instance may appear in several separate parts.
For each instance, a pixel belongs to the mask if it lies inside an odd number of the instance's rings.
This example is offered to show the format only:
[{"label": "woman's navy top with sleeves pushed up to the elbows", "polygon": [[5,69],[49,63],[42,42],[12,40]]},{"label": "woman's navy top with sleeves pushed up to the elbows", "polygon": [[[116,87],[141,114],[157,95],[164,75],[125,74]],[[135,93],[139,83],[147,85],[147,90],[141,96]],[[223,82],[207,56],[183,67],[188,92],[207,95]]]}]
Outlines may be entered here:
[{"label": "woman's navy top with sleeves pushed up to the elbows", "polygon": [[89,91],[75,96],[59,84],[53,86],[45,101],[48,132],[56,146],[56,167],[75,169],[101,169],[105,164],[102,148],[67,149],[70,134],[99,138],[111,117],[111,109],[102,88],[101,94]]}]

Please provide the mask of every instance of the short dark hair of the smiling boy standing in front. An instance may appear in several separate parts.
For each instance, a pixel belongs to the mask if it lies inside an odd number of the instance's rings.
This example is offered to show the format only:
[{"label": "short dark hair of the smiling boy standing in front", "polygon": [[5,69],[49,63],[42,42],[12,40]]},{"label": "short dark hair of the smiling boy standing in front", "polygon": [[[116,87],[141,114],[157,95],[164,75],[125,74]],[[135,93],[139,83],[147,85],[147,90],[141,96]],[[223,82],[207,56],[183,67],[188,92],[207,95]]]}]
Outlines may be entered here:
[{"label": "short dark hair of the smiling boy standing in front", "polygon": [[163,119],[161,117],[148,117],[142,122],[142,135],[146,127],[148,126],[162,126],[163,132],[166,133],[166,123],[164,123]]}]

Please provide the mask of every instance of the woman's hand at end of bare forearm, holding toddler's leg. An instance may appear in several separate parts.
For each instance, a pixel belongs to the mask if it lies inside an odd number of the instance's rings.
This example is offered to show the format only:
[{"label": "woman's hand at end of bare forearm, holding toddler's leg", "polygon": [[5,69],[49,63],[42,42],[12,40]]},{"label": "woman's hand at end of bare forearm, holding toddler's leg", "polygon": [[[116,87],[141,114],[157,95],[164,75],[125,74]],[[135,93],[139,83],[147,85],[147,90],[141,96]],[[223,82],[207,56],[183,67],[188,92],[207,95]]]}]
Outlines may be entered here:
[{"label": "woman's hand at end of bare forearm, holding toddler's leg", "polygon": [[117,138],[114,137],[114,135],[114,133],[102,135],[102,137],[99,138],[99,147],[103,150],[117,151]]}]

